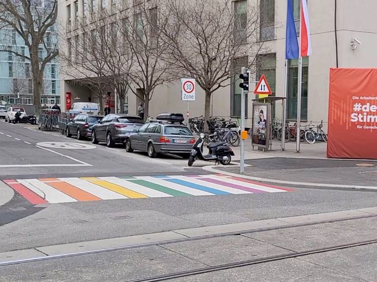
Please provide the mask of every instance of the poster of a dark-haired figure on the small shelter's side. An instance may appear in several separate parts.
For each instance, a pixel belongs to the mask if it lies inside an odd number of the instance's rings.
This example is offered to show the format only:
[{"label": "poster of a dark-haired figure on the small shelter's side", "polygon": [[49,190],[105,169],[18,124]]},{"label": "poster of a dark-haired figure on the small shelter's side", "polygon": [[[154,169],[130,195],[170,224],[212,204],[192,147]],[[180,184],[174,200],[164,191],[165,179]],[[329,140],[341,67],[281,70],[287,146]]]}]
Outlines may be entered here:
[{"label": "poster of a dark-haired figure on the small shelter's side", "polygon": [[253,138],[252,146],[269,147],[269,104],[253,104]]}]

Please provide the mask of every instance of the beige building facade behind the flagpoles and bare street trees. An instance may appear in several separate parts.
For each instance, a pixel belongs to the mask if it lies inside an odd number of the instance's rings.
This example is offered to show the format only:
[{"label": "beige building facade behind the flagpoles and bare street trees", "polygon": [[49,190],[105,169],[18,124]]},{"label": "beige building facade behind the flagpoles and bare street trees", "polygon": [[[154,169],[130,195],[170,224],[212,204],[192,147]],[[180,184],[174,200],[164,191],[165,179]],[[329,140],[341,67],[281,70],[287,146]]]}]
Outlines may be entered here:
[{"label": "beige building facade behind the flagpoles and bare street trees", "polygon": [[[91,0],[94,7],[109,7],[114,5],[111,0]],[[98,2],[98,3],[97,3]],[[293,0],[294,17],[299,29],[300,0]],[[377,67],[377,56],[374,55],[377,46],[377,24],[374,14],[377,2],[365,0],[363,5],[357,1],[348,0],[308,0],[310,31],[313,53],[303,58],[302,78],[302,120],[305,122],[327,122],[329,69],[332,67]],[[70,23],[72,15],[80,15],[90,5],[87,0],[59,0],[59,17],[63,24]],[[277,0],[238,0],[232,4],[237,7],[237,17],[247,17],[248,7],[257,5],[260,12],[259,40],[263,42],[263,52],[258,55],[255,72],[250,81],[258,81],[264,74],[273,95],[285,95],[285,22],[287,17],[287,1]],[[365,9],[368,7],[368,9]],[[235,8],[236,9],[236,8]],[[368,19],[368,20],[364,20]],[[242,28],[242,27],[241,27]],[[361,42],[361,44],[359,44]],[[297,81],[298,60],[288,60],[287,74],[287,119],[295,121],[297,117]],[[234,67],[250,64],[250,58],[239,57],[234,60]],[[213,94],[211,115],[234,117],[240,116],[240,80],[238,75],[229,81],[229,86],[220,88]],[[252,100],[257,98],[252,90],[255,84],[250,83],[251,92],[247,95],[246,126],[251,127]],[[150,102],[150,115],[160,112],[174,111],[186,113],[187,106],[190,116],[204,114],[204,91],[197,88],[196,101],[188,104],[181,101],[181,85],[177,79],[168,85],[156,88]],[[71,85],[61,77],[61,99],[66,93],[71,93],[79,101],[91,100],[88,90]],[[114,93],[111,89],[110,93]],[[113,94],[112,94],[113,95]],[[137,112],[140,102],[131,92],[128,95],[128,111]],[[62,102],[63,104],[63,102]],[[273,107],[272,115],[281,116],[281,102]]]}]

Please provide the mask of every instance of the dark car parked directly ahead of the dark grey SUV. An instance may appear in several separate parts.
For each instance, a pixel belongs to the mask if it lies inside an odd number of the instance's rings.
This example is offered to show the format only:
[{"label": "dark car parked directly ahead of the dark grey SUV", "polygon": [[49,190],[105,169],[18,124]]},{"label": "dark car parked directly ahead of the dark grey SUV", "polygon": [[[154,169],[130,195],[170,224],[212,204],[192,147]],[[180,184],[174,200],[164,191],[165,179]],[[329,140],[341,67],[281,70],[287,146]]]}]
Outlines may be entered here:
[{"label": "dark car parked directly ahead of the dark grey SUV", "polygon": [[75,135],[78,140],[90,137],[93,125],[101,122],[103,118],[103,115],[76,115],[73,120],[67,124],[65,134],[67,137]]}]

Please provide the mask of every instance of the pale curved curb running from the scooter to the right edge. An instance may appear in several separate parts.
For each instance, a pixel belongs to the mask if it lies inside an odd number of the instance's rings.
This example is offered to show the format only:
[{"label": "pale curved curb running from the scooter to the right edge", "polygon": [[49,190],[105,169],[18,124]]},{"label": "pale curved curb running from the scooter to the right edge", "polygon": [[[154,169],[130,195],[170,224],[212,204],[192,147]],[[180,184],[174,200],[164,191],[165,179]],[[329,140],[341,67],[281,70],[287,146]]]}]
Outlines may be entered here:
[{"label": "pale curved curb running from the scooter to the right edge", "polygon": [[[313,186],[313,187],[331,187],[331,188],[351,188],[351,189],[372,189],[377,190],[376,186],[360,186],[360,185],[340,185],[340,184],[329,184],[329,183],[309,183],[309,182],[295,182],[295,181],[286,181],[286,180],[278,180],[278,179],[268,179],[268,178],[260,178],[254,176],[248,176],[238,173],[227,172],[224,170],[215,169],[216,166],[205,166],[202,167],[203,170],[209,171],[212,173],[219,173],[229,176],[241,177],[250,180],[256,180],[261,182],[270,182],[270,183],[278,183],[278,184],[288,184],[288,185],[302,185],[302,186]],[[228,167],[239,167],[239,165],[228,165]]]}]

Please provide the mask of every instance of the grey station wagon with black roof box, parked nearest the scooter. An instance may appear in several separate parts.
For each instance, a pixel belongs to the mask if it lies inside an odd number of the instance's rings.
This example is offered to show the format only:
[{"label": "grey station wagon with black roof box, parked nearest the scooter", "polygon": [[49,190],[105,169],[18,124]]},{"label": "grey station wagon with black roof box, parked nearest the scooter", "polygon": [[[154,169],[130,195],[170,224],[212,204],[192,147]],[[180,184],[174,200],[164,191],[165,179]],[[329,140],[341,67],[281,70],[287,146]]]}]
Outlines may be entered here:
[{"label": "grey station wagon with black roof box, parked nearest the scooter", "polygon": [[171,153],[189,158],[195,138],[190,128],[181,122],[154,120],[144,124],[126,138],[126,151],[147,152],[150,158],[159,153]]}]

